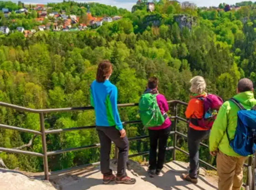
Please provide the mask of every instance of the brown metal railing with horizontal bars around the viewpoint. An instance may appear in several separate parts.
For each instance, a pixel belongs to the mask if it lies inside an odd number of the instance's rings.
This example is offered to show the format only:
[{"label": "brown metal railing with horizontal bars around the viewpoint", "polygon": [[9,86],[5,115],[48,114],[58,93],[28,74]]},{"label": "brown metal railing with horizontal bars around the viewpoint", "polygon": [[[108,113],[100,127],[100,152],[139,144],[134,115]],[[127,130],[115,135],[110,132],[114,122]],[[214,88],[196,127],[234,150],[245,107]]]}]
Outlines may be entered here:
[{"label": "brown metal railing with horizontal bars around the viewpoint", "polygon": [[[180,152],[182,152],[186,155],[189,155],[188,152],[186,152],[185,150],[183,150],[183,149],[181,149],[177,146],[177,136],[180,136],[180,137],[183,137],[183,138],[187,139],[187,135],[177,131],[178,121],[182,121],[182,122],[187,123],[186,119],[178,116],[178,105],[187,106],[187,103],[179,101],[179,100],[168,101],[168,103],[171,104],[174,108],[174,110],[173,110],[174,111],[174,116],[170,117],[170,119],[174,120],[174,130],[170,132],[170,135],[174,135],[174,140],[173,140],[173,146],[167,147],[166,149],[167,150],[173,150],[172,158],[173,158],[173,160],[176,160],[176,150],[178,150],[178,151],[180,151]],[[84,149],[89,149],[89,148],[96,148],[96,147],[100,147],[100,144],[99,143],[98,144],[91,144],[91,145],[82,146],[82,147],[66,148],[66,149],[62,149],[62,150],[47,152],[46,135],[68,132],[68,131],[75,131],[75,130],[92,129],[92,128],[95,128],[96,126],[92,125],[92,126],[66,128],[66,129],[46,130],[44,114],[53,113],[53,112],[70,112],[70,111],[93,110],[93,107],[87,106],[87,107],[56,108],[56,109],[30,109],[30,108],[25,108],[25,107],[12,105],[12,104],[8,104],[8,103],[4,103],[4,102],[0,102],[0,106],[15,109],[15,110],[18,110],[18,111],[21,111],[21,112],[29,112],[29,113],[39,114],[40,131],[20,128],[20,127],[15,127],[15,126],[10,126],[10,125],[4,125],[4,124],[0,124],[0,128],[12,129],[12,130],[20,131],[20,132],[27,132],[27,133],[33,133],[33,134],[36,134],[36,135],[40,135],[41,136],[41,141],[42,141],[42,153],[31,152],[31,151],[22,151],[22,150],[17,150],[17,149],[12,149],[12,148],[3,148],[3,147],[0,147],[0,151],[7,152],[7,153],[25,154],[25,155],[42,157],[43,160],[44,160],[44,173],[45,173],[45,179],[46,180],[49,180],[50,175],[63,173],[63,172],[66,172],[66,171],[75,170],[75,169],[83,168],[83,167],[86,167],[86,166],[94,166],[94,165],[99,164],[99,162],[96,162],[96,163],[86,164],[86,165],[82,165],[82,166],[76,166],[76,167],[68,168],[68,169],[64,169],[64,170],[59,170],[59,171],[55,171],[55,172],[49,172],[49,168],[48,168],[48,156],[56,155],[56,154],[62,154],[62,153],[65,153],[65,152],[78,151],[78,150],[84,150]],[[133,107],[133,106],[138,106],[138,103],[119,104],[118,105],[118,107]],[[138,124],[138,123],[141,123],[141,121],[140,120],[134,120],[134,121],[122,122],[123,125]],[[140,137],[133,137],[133,138],[129,138],[129,141],[141,140],[141,139],[146,139],[146,138],[149,138],[149,136],[145,135],[145,136],[140,136]],[[203,147],[208,148],[208,145],[206,145],[204,143],[200,143],[200,145],[202,145]],[[136,156],[147,155],[147,154],[149,154],[149,151],[129,155],[129,158],[136,157]],[[115,158],[117,158],[117,148],[115,148]],[[256,161],[256,159],[255,159],[255,161]],[[211,164],[209,164],[209,163],[207,163],[207,162],[205,162],[201,159],[199,159],[199,162],[201,164],[213,169],[213,170],[217,170],[216,167],[212,166]],[[246,182],[246,184],[243,185],[246,188],[246,190],[254,190],[254,169],[252,168],[253,163],[254,163],[253,159],[251,157],[249,157],[248,164],[244,165],[245,167],[247,167],[247,182]]]}]

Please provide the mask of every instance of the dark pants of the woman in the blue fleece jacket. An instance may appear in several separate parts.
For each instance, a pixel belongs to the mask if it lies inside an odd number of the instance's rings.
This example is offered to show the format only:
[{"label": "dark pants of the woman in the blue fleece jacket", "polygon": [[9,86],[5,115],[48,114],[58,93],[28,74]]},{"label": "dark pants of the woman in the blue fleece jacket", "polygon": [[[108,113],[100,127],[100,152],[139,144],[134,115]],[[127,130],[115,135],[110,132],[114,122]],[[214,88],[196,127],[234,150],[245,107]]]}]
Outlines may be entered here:
[{"label": "dark pants of the woman in the blue fleece jacket", "polygon": [[129,141],[127,137],[120,138],[121,134],[119,130],[113,127],[96,127],[100,140],[100,170],[101,173],[106,176],[112,174],[110,169],[110,151],[111,141],[113,141],[116,147],[119,149],[118,164],[117,164],[117,176],[126,176],[126,162],[128,159]]}]

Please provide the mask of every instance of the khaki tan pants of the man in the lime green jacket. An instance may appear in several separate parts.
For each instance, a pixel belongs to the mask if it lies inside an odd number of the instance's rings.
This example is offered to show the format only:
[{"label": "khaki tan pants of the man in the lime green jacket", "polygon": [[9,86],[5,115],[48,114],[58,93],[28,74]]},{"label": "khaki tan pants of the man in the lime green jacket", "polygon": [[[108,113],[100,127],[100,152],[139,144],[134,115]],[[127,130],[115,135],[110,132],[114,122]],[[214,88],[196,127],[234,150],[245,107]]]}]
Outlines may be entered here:
[{"label": "khaki tan pants of the man in the lime green jacket", "polygon": [[240,190],[243,184],[243,165],[247,157],[217,154],[218,190]]}]

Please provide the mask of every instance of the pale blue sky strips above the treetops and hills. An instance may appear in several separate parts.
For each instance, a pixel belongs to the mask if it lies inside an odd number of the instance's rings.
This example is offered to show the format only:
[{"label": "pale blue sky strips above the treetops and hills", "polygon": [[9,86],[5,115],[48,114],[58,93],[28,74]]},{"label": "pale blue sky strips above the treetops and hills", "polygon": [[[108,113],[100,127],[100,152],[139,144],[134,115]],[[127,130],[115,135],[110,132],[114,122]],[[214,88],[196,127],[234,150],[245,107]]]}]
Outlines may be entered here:
[{"label": "pale blue sky strips above the treetops and hills", "polygon": [[[8,0],[4,0],[8,1]],[[13,2],[18,2],[18,0],[11,0]],[[29,3],[42,3],[42,4],[47,4],[49,2],[51,3],[58,3],[62,2],[63,0],[21,0],[25,4]],[[89,0],[89,1],[81,1],[81,0],[75,0],[77,2],[97,2],[97,3],[102,3],[106,5],[112,5],[116,6],[118,8],[126,8],[131,11],[132,7],[134,4],[136,4],[137,0]],[[149,0],[150,1],[150,0]],[[242,1],[242,0],[241,0]],[[237,2],[241,2],[239,0],[190,0],[189,2],[195,3],[197,6],[202,7],[202,6],[218,6],[220,3],[225,2],[226,4],[235,4]],[[182,2],[182,0],[180,0]]]}]

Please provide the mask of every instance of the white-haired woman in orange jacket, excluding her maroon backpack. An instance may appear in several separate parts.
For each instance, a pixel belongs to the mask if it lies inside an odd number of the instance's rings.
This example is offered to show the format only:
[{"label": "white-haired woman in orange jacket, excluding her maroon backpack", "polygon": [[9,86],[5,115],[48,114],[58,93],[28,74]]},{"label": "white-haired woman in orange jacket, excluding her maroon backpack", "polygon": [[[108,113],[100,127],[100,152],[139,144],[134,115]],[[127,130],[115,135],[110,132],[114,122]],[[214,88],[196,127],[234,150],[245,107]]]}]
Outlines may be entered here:
[{"label": "white-haired woman in orange jacket, excluding her maroon backpack", "polygon": [[188,151],[189,166],[188,174],[182,174],[182,178],[192,183],[197,183],[199,172],[199,146],[200,142],[207,139],[210,133],[209,128],[202,128],[197,123],[197,118],[202,118],[204,113],[203,100],[207,96],[205,93],[206,83],[204,78],[196,76],[190,80],[190,91],[193,95],[190,97],[185,115],[189,119],[188,129]]}]

